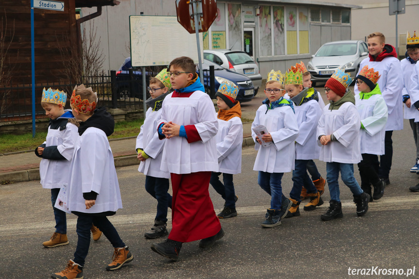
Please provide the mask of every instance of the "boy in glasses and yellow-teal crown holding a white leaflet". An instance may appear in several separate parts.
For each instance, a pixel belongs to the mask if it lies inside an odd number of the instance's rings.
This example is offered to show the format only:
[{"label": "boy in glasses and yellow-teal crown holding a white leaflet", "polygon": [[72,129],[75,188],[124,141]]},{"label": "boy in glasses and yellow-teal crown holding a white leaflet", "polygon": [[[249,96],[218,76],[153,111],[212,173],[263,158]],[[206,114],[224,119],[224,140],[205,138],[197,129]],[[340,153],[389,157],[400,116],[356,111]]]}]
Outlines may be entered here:
[{"label": "boy in glasses and yellow-teal crown holding a white leaflet", "polygon": [[[282,194],[281,179],[284,172],[294,169],[294,142],[299,130],[292,102],[284,98],[284,82],[285,76],[281,71],[269,72],[265,88],[267,98],[257,109],[251,124],[254,149],[258,150],[253,170],[259,172],[259,186],[271,196],[270,208],[262,222],[262,227],[266,228],[281,225],[291,206],[291,201]],[[253,131],[259,125],[268,130],[262,139]],[[271,144],[264,147],[261,140]]]}]

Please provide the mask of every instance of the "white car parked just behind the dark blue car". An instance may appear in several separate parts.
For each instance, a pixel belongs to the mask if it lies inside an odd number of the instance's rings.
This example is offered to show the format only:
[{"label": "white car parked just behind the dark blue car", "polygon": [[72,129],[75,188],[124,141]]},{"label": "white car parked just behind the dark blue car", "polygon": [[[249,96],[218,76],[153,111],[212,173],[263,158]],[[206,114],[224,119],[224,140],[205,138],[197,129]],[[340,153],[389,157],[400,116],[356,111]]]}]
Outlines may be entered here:
[{"label": "white car parked just behind the dark blue car", "polygon": [[262,76],[259,67],[244,51],[236,50],[204,50],[204,59],[228,70],[243,74],[251,79],[254,85],[254,95],[262,86]]}]

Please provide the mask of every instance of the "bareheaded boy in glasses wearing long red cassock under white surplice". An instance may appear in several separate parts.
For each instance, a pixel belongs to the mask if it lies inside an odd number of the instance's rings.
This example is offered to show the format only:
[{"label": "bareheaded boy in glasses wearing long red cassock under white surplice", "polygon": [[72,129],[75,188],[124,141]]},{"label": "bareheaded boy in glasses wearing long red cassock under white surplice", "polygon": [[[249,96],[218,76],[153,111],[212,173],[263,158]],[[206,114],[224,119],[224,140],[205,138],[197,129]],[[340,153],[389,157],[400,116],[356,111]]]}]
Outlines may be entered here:
[{"label": "bareheaded boy in glasses wearing long red cassock under white surplice", "polygon": [[191,58],[174,59],[169,70],[175,91],[163,101],[157,129],[165,139],[161,170],[169,172],[172,181],[172,230],[151,249],[176,261],[184,242],[201,239],[200,247],[210,247],[224,231],[208,192],[211,173],[218,171],[214,103]]}]

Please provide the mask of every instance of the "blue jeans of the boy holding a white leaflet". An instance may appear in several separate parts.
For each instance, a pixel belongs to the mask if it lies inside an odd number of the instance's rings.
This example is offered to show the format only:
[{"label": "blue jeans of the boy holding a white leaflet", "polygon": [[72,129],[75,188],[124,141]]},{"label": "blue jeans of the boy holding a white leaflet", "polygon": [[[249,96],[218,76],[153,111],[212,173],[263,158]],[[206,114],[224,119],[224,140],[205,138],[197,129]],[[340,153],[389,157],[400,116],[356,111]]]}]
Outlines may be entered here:
[{"label": "blue jeans of the boy holding a white leaflet", "polygon": [[[257,183],[259,186],[267,192],[270,196],[270,209],[281,210],[281,204],[283,200],[281,179],[284,173],[268,173],[259,171]],[[300,192],[301,193],[301,192]]]}]

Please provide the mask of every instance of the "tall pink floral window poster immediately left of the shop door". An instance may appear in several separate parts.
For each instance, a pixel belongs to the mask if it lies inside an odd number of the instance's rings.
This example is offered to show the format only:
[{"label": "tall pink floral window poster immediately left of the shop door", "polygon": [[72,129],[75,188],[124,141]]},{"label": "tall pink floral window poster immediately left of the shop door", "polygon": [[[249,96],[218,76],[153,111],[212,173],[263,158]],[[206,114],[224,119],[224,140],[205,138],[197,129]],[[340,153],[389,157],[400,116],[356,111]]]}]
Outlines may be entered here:
[{"label": "tall pink floral window poster immediately left of the shop door", "polygon": [[228,44],[229,49],[242,50],[241,47],[241,5],[227,4],[228,11]]}]

